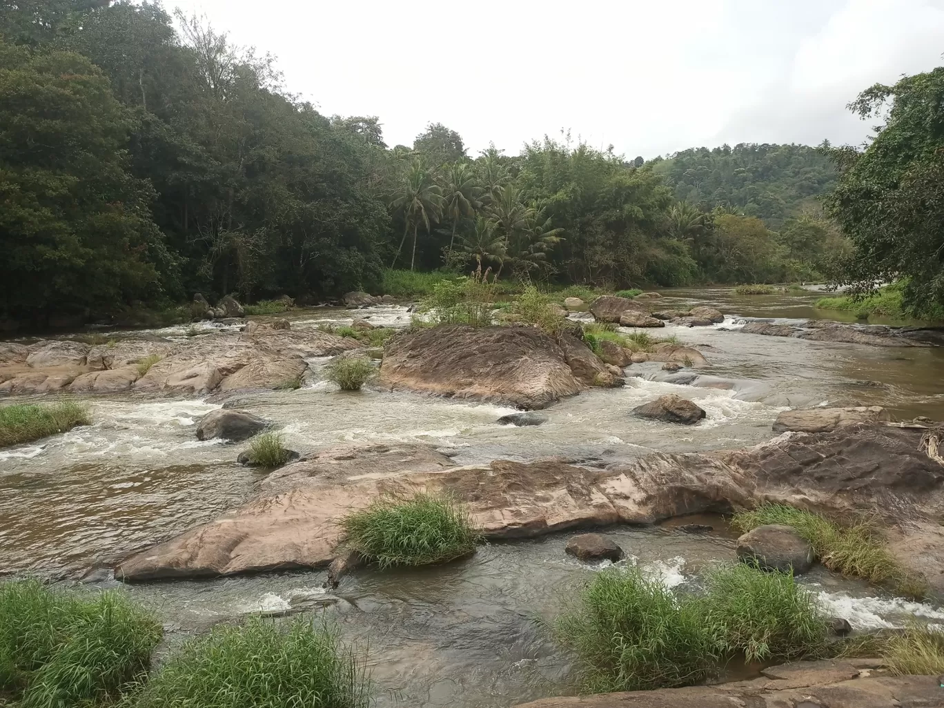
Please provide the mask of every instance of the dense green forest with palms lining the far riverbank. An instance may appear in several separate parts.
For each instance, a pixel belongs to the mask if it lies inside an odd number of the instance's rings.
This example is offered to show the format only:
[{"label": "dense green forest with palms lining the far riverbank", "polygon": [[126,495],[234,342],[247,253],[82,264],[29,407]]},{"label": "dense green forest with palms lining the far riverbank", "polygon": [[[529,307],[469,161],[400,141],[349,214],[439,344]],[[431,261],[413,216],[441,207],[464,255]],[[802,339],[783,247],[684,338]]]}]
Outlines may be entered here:
[{"label": "dense green forest with palms lining the far riverbank", "polygon": [[18,0],[0,8],[0,320],[195,292],[320,301],[379,292],[390,268],[615,287],[824,278],[853,262],[837,224],[855,232],[842,199],[824,218],[814,198],[834,187],[828,152],[646,162],[562,134],[470,155],[436,123],[391,147],[378,117],[321,114],[272,57],[199,18]]}]

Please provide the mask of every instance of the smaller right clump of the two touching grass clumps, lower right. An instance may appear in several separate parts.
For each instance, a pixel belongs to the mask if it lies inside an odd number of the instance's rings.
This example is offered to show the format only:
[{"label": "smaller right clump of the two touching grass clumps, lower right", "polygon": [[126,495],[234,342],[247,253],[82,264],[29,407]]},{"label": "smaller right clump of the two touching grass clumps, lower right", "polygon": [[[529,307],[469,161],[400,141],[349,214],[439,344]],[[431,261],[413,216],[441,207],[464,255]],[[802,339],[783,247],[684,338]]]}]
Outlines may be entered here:
[{"label": "smaller right clump of the two touching grass clumps, lower right", "polygon": [[770,657],[816,655],[826,623],[808,590],[789,573],[765,573],[747,564],[723,566],[706,575],[706,612],[725,653],[749,662]]}]

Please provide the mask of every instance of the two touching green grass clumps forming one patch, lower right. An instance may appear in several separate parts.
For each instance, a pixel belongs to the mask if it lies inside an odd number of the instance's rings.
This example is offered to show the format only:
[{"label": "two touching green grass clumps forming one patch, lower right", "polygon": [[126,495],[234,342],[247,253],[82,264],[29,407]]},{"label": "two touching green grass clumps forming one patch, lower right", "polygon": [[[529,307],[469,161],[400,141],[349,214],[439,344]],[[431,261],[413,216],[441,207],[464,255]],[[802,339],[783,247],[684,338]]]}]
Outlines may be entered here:
[{"label": "two touching green grass clumps forming one patch, lower right", "polygon": [[788,574],[719,567],[702,594],[676,595],[631,567],[597,573],[553,633],[578,656],[582,690],[607,693],[698,683],[736,655],[816,656],[826,623]]}]

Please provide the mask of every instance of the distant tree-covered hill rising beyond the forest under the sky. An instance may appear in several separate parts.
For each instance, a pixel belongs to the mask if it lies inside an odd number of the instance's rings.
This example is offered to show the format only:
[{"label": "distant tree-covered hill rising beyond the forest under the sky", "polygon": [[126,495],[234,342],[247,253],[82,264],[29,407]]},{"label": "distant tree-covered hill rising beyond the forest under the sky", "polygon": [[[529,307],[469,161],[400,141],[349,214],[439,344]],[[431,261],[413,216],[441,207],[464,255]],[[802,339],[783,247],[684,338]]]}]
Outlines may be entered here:
[{"label": "distant tree-covered hill rising beyond the forest under the sky", "polygon": [[832,163],[810,145],[693,147],[654,160],[653,167],[680,201],[705,211],[732,206],[775,229],[815,206],[835,182]]}]

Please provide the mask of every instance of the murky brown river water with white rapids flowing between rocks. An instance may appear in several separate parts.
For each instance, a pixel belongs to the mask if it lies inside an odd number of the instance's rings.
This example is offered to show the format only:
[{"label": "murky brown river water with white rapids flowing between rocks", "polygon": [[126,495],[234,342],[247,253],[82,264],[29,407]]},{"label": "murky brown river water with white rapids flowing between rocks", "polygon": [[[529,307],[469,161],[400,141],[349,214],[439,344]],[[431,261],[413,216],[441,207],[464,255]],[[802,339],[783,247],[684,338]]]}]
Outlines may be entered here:
[{"label": "murky brown river water with white rapids flowing between rocks", "polygon": [[[700,289],[664,295],[666,309],[707,304],[730,314],[715,328],[655,332],[674,334],[705,354],[711,365],[696,385],[662,380],[660,364],[634,364],[625,388],[561,401],[538,428],[499,426],[497,418],[511,409],[489,404],[377,388],[341,393],[319,380],[327,360],[310,362],[312,380],[297,391],[245,394],[236,403],[277,423],[296,450],[425,442],[447,448],[458,464],[548,455],[610,463],[652,450],[745,447],[769,439],[771,423],[787,407],[878,404],[902,418],[944,419],[944,347],[828,344],[738,331],[746,317],[820,316],[812,307],[818,293],[737,297],[730,289]],[[301,329],[363,315],[394,327],[411,317],[404,307],[385,306],[306,310],[289,319]],[[152,334],[186,338],[184,328]],[[666,393],[696,400],[707,419],[673,427],[630,414]],[[210,520],[252,494],[259,474],[235,464],[241,447],[194,437],[195,421],[221,400],[108,396],[88,402],[92,426],[0,450],[0,572],[76,577]],[[733,534],[719,519],[709,523],[716,532],[705,535],[675,530],[678,520],[607,532],[631,555],[629,563],[681,586],[701,565],[733,557]],[[596,568],[565,556],[566,540],[561,534],[493,544],[462,562],[421,571],[364,569],[335,591],[322,588],[323,572],[302,572],[144,584],[131,592],[164,618],[172,644],[245,614],[324,612],[366,652],[379,706],[503,708],[573,690],[568,658],[548,640],[545,623]],[[803,582],[858,629],[898,626],[915,614],[944,620],[936,607],[880,596],[821,569]]]}]

